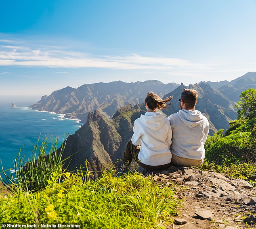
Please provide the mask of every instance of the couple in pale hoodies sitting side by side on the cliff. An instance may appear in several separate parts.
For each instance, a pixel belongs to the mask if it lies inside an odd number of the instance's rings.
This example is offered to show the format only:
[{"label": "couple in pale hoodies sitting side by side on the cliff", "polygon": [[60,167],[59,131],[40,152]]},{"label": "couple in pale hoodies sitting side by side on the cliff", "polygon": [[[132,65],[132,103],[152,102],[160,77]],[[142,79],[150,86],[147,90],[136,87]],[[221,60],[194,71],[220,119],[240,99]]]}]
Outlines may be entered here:
[{"label": "couple in pale hoodies sitting side by side on the cliff", "polygon": [[171,164],[199,166],[204,162],[208,120],[195,110],[197,91],[184,89],[180,95],[180,111],[165,118],[157,109],[166,109],[173,97],[161,99],[153,92],[147,93],[147,112],[134,122],[134,134],[124,152],[123,171],[132,159],[150,170],[165,169]]}]

